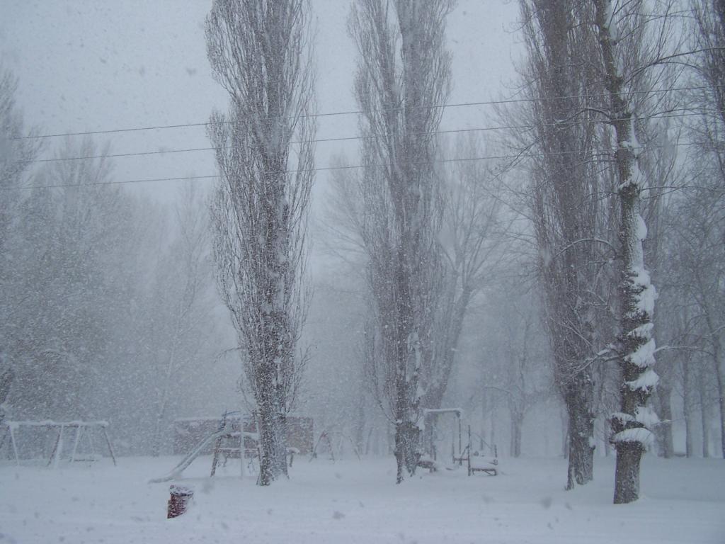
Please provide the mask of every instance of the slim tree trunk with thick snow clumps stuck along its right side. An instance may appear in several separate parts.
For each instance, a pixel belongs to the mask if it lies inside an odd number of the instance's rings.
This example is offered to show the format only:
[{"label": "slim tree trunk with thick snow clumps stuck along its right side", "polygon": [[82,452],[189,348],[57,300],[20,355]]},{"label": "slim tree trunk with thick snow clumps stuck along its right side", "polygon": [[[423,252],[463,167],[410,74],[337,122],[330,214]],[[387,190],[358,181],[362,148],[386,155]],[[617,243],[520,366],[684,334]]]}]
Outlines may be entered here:
[{"label": "slim tree trunk with thick snow clumps stuck along its right side", "polygon": [[624,94],[621,58],[618,57],[616,15],[610,0],[595,0],[600,49],[608,91],[608,112],[616,135],[616,170],[620,203],[619,246],[621,283],[618,365],[621,372],[620,412],[612,416],[612,441],[617,452],[614,503],[631,503],[639,498],[639,463],[642,453],[653,442],[649,427],[658,422],[647,406],[657,385],[653,312],[655,287],[645,269],[642,241],[647,236],[640,215],[642,178],[637,168],[639,145],[634,129],[635,116]]}]

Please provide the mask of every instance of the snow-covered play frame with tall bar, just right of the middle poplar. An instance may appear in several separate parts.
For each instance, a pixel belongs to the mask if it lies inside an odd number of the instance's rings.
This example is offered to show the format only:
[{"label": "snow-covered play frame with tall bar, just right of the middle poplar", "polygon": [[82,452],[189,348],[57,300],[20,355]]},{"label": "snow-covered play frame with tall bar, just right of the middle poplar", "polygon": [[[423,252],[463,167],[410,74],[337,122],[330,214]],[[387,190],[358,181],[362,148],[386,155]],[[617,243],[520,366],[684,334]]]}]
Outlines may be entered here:
[{"label": "snow-covered play frame with tall bar, just right of the middle poplar", "polygon": [[[468,476],[472,476],[476,472],[482,472],[489,476],[496,476],[498,474],[498,456],[495,446],[489,446],[491,455],[484,455],[479,450],[473,448],[473,442],[471,440],[471,426],[468,425],[468,442],[464,445],[463,443],[463,426],[461,424],[461,416],[463,410],[460,408],[438,408],[423,410],[423,433],[422,433],[422,446],[423,454],[418,459],[418,466],[424,469],[428,469],[431,472],[439,471],[442,468],[454,469],[455,466],[463,466],[465,463],[468,469]],[[454,416],[453,424],[449,429],[450,432],[450,443],[451,443],[451,463],[452,466],[446,466],[444,463],[439,461],[439,442],[440,442],[440,426],[439,419],[442,416],[452,415]],[[479,437],[481,444],[484,444],[484,440]],[[457,448],[456,448],[457,446]]]}]

